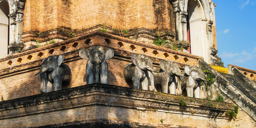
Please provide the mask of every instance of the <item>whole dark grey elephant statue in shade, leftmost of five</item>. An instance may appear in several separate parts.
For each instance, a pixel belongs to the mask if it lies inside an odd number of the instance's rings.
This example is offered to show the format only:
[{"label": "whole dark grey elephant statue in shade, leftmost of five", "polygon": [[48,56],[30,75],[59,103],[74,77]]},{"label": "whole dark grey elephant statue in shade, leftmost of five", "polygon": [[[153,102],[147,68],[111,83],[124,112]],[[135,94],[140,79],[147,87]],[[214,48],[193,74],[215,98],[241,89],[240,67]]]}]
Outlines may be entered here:
[{"label": "whole dark grey elephant statue in shade, leftmost of five", "polygon": [[[42,62],[40,71],[35,75],[40,73],[41,85],[40,92],[52,92],[52,84],[54,83],[55,91],[61,90],[62,84],[68,84],[71,82],[72,70],[66,65],[62,64],[62,55],[48,56]],[[43,91],[45,83],[45,90]]]}]

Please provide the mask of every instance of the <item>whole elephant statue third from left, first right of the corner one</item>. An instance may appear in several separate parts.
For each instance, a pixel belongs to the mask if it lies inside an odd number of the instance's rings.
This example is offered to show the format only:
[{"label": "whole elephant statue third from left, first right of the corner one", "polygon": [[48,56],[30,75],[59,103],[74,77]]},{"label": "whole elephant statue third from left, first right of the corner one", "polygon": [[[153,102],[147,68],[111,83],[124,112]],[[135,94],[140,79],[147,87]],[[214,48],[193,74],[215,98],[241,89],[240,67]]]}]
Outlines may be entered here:
[{"label": "whole elephant statue third from left, first right of the corner one", "polygon": [[[131,60],[123,70],[126,83],[134,89],[155,91],[153,61],[144,54],[133,54]],[[150,85],[152,89],[149,88]]]}]

